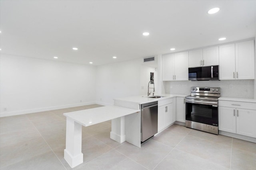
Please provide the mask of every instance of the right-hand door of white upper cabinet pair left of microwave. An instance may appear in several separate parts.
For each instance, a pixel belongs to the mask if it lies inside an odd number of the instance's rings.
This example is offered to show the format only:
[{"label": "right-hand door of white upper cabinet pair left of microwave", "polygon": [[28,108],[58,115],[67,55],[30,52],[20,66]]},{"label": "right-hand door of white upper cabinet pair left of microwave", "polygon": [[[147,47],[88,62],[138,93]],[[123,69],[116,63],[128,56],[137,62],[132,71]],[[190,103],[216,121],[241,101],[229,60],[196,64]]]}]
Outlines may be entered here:
[{"label": "right-hand door of white upper cabinet pair left of microwave", "polygon": [[188,80],[188,51],[174,54],[174,80]]}]

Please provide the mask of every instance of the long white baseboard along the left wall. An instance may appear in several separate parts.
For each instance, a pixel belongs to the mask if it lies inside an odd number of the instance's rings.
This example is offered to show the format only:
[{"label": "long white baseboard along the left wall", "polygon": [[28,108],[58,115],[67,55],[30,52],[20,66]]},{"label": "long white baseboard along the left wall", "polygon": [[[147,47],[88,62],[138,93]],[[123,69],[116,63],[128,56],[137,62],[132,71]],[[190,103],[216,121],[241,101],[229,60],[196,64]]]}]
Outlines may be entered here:
[{"label": "long white baseboard along the left wall", "polygon": [[97,102],[84,102],[84,103],[68,104],[68,105],[62,105],[62,106],[52,106],[52,107],[44,107],[44,108],[36,108],[36,109],[2,112],[0,113],[0,117],[23,115],[27,113],[36,113],[40,111],[49,111],[49,110],[56,110],[56,109],[65,109],[68,107],[78,107],[78,106],[85,106],[90,104],[97,104]]}]

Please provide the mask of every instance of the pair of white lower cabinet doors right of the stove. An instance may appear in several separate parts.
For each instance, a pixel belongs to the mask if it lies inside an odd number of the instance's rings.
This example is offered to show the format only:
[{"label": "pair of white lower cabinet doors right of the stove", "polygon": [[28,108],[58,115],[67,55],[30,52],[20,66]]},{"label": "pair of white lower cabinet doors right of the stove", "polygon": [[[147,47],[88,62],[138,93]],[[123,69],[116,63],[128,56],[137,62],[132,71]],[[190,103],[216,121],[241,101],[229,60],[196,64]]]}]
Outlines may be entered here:
[{"label": "pair of white lower cabinet doors right of the stove", "polygon": [[256,110],[223,106],[218,109],[220,131],[256,137]]}]

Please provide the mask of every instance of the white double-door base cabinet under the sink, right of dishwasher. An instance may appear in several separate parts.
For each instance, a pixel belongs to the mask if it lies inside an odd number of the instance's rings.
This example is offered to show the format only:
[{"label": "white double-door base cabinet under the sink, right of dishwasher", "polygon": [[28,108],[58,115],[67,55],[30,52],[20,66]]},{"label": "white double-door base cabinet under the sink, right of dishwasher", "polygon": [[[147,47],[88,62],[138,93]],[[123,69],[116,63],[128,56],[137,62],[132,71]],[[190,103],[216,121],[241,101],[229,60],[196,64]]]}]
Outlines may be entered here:
[{"label": "white double-door base cabinet under the sink, right of dishwasher", "polygon": [[158,101],[158,132],[176,121],[175,110],[175,98]]}]

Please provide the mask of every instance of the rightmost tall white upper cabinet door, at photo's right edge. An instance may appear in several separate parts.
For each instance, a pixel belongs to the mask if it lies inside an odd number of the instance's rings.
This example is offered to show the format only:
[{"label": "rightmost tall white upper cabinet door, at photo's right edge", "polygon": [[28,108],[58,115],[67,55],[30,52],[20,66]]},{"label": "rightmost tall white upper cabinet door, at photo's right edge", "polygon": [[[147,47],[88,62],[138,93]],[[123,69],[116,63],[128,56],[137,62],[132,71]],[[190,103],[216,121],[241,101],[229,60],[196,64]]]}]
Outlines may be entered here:
[{"label": "rightmost tall white upper cabinet door, at photo's right edge", "polygon": [[236,43],[236,79],[254,79],[254,40]]}]

